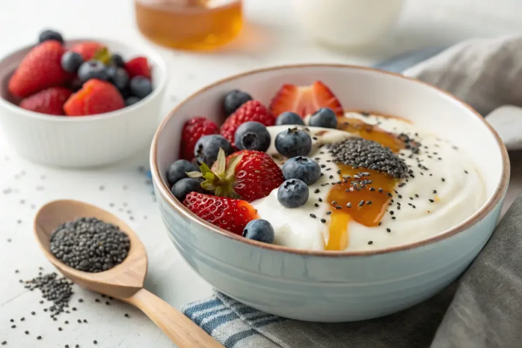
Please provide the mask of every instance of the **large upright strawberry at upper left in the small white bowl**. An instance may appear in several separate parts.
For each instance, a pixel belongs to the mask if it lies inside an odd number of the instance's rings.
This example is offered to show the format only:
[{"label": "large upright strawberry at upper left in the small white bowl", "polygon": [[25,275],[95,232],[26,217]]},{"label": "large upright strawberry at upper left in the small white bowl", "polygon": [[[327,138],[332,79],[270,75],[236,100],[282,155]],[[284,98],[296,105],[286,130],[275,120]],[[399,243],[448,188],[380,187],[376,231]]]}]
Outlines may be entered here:
[{"label": "large upright strawberry at upper left in the small white bowl", "polygon": [[62,69],[63,53],[62,44],[55,40],[34,46],[9,79],[9,93],[26,98],[45,88],[63,86],[71,77]]}]

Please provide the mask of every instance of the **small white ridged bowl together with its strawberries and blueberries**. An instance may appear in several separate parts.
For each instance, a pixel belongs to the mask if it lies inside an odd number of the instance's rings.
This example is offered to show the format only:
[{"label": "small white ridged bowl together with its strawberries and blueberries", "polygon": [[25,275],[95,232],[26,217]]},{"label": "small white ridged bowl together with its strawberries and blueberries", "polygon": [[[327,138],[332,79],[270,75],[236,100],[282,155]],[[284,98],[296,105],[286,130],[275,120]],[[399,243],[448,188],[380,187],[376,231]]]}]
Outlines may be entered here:
[{"label": "small white ridged bowl together with its strawberries and blueberries", "polygon": [[39,41],[0,59],[0,129],[15,151],[89,167],[148,145],[167,82],[161,56],[111,40],[64,41],[54,31]]}]

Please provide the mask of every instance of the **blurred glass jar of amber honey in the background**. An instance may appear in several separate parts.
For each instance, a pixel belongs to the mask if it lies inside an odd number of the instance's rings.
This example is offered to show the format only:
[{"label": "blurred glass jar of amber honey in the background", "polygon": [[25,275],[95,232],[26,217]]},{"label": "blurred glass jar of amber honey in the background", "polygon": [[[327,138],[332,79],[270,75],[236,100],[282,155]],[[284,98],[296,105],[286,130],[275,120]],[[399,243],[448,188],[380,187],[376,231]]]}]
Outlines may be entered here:
[{"label": "blurred glass jar of amber honey in the background", "polygon": [[184,50],[211,50],[238,35],[242,0],[135,0],[138,29],[149,40]]}]

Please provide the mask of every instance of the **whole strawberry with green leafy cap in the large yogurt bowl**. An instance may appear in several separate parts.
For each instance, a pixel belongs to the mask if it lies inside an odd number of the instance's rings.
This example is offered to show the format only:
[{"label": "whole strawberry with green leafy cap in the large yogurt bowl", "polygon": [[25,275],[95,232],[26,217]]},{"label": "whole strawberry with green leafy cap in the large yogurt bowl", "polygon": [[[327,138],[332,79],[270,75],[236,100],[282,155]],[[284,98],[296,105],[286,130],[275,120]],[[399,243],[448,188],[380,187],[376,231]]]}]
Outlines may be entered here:
[{"label": "whole strawberry with green leafy cap in the large yogurt bowl", "polygon": [[216,196],[242,198],[247,202],[266,197],[283,182],[283,173],[269,154],[256,150],[243,150],[225,157],[219,149],[212,169],[206,164],[201,172],[187,173],[190,177],[203,177],[201,187]]}]

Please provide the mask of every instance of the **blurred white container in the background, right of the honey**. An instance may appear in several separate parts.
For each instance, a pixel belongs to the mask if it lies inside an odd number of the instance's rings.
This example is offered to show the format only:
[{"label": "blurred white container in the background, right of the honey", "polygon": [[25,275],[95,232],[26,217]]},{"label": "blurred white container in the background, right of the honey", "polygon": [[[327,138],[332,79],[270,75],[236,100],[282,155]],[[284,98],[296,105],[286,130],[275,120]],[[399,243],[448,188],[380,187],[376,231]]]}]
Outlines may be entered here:
[{"label": "blurred white container in the background, right of the honey", "polygon": [[312,38],[335,46],[361,46],[386,34],[404,0],[293,0],[301,27]]}]

